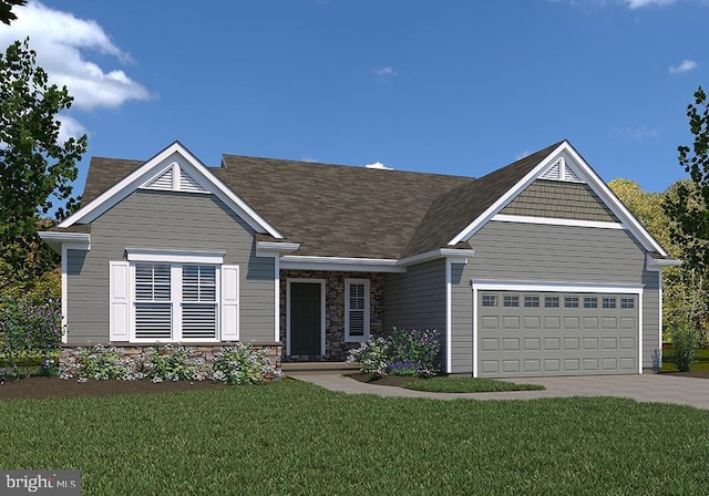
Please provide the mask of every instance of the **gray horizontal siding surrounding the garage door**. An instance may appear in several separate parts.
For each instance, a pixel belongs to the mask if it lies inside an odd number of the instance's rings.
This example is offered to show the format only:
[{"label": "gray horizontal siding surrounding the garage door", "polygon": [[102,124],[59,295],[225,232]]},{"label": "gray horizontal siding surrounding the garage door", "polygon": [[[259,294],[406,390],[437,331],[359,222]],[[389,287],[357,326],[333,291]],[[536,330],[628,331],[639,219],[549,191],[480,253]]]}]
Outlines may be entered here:
[{"label": "gray horizontal siding surrounding the garage door", "polygon": [[[646,270],[646,251],[623,229],[490,221],[471,239],[475,255],[453,279],[452,304],[472,308],[470,281],[643,286],[643,362],[658,348],[657,272]],[[452,371],[472,371],[473,316],[452,314]],[[464,351],[459,352],[460,347]]]}]

